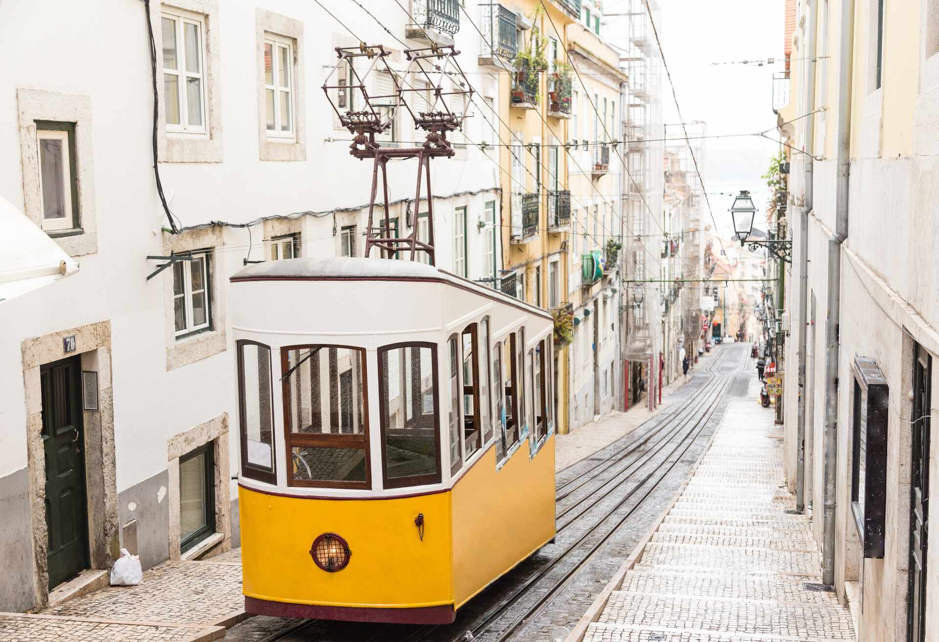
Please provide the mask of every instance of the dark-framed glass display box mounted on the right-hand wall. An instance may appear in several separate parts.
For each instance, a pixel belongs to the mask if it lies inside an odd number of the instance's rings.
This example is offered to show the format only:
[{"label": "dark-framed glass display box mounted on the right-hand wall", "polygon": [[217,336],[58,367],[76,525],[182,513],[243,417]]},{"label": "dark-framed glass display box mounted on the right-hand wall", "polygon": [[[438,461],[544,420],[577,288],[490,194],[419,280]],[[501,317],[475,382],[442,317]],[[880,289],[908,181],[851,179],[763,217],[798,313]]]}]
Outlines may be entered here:
[{"label": "dark-framed glass display box mounted on the right-hand wall", "polygon": [[865,557],[884,557],[889,388],[877,362],[854,358],[851,511]]}]

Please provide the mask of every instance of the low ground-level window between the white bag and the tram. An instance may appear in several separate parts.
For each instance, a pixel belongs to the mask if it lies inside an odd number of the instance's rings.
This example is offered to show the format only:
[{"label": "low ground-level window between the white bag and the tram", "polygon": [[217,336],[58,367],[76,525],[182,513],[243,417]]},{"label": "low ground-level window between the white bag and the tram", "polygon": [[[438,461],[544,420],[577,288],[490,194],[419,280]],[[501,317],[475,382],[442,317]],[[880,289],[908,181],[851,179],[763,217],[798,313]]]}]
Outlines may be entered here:
[{"label": "low ground-level window between the white bag and the tram", "polygon": [[214,443],[209,442],[179,458],[179,550],[181,553],[185,553],[215,532],[213,449]]}]

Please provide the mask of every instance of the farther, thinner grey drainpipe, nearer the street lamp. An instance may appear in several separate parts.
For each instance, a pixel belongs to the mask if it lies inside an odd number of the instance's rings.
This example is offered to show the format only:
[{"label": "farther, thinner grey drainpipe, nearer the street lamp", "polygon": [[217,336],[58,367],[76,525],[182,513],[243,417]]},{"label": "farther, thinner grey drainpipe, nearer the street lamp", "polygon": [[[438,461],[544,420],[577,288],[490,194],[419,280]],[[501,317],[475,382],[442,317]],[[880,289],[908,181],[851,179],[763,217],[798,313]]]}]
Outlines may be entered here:
[{"label": "farther, thinner grey drainpipe, nearer the street lamp", "polygon": [[[816,0],[818,2],[819,0]],[[808,74],[806,79],[808,98],[804,113],[815,110],[815,53],[816,26],[818,24],[818,6],[811,8],[808,17]],[[806,326],[808,307],[808,212],[812,211],[812,190],[814,185],[815,117],[806,120],[806,175],[805,205],[799,210],[799,399],[798,418],[796,419],[795,444],[798,450],[795,464],[795,509],[806,511]]]}]

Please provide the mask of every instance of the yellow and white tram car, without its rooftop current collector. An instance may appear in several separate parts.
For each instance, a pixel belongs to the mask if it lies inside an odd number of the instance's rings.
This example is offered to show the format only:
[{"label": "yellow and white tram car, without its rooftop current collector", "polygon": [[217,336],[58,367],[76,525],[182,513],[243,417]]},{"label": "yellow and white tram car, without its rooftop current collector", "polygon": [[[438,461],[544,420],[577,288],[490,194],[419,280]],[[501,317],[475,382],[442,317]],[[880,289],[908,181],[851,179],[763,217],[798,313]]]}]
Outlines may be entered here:
[{"label": "yellow and white tram car, without its rooftop current collector", "polygon": [[554,538],[545,310],[387,258],[231,281],[247,611],[448,623]]}]

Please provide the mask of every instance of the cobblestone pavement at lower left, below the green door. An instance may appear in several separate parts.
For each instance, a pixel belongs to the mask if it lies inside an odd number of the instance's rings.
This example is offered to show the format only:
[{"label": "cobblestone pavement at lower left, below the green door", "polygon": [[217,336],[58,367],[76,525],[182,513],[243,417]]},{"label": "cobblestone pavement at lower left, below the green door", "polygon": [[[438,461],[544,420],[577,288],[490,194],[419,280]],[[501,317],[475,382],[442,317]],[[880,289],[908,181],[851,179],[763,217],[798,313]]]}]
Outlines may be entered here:
[{"label": "cobblestone pavement at lower left, below the green door", "polygon": [[39,615],[0,613],[0,642],[202,642],[244,619],[238,549],[166,561],[136,587],[105,587]]}]

